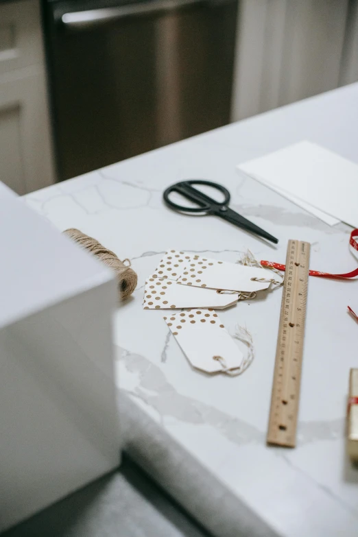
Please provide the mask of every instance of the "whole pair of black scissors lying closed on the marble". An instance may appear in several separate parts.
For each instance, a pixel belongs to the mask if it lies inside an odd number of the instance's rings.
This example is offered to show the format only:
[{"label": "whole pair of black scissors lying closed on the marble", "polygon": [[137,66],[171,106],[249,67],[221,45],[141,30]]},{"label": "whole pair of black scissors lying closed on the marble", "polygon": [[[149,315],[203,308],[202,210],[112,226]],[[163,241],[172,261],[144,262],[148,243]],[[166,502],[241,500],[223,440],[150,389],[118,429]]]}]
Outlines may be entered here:
[{"label": "whole pair of black scissors lying closed on the marble", "polygon": [[[224,194],[224,201],[217,202],[216,200],[213,200],[213,198],[210,198],[200,190],[192,187],[192,184],[204,184],[207,187],[212,187],[213,189],[219,190],[222,194]],[[169,198],[171,192],[181,194],[184,198],[187,198],[187,200],[190,200],[198,206],[187,207],[172,202]],[[205,213],[206,215],[216,215],[224,218],[224,220],[227,220],[231,224],[235,224],[235,226],[238,226],[239,228],[256,233],[256,235],[259,235],[268,241],[274,242],[275,244],[278,243],[278,239],[276,239],[276,237],[272,237],[270,233],[267,233],[265,230],[259,228],[259,226],[252,224],[250,220],[247,220],[238,213],[235,213],[235,211],[232,211],[232,209],[228,207],[228,204],[230,203],[230,192],[223,187],[222,184],[198,179],[181,181],[177,182],[176,184],[172,184],[171,187],[167,188],[167,190],[163,193],[163,198],[165,204],[178,213]]]}]

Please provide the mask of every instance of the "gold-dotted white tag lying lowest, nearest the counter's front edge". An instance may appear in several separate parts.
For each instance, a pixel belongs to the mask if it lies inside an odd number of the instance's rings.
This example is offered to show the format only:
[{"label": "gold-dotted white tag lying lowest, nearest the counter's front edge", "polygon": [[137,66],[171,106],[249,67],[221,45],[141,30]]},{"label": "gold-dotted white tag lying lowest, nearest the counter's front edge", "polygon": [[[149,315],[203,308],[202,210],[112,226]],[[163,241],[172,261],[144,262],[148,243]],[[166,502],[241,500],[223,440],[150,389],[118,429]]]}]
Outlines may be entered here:
[{"label": "gold-dotted white tag lying lowest, nearest the counter's front edge", "polygon": [[191,309],[164,319],[194,368],[215,373],[241,367],[241,350],[212,309]]}]

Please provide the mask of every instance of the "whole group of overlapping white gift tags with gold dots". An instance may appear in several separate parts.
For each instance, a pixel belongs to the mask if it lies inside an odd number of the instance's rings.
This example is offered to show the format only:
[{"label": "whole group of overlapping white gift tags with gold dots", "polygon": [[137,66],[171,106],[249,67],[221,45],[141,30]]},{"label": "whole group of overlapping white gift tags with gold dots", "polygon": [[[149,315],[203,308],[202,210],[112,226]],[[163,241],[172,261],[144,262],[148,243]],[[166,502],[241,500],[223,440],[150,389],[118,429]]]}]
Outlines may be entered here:
[{"label": "whole group of overlapping white gift tags with gold dots", "polygon": [[145,281],[143,307],[189,309],[164,319],[192,365],[206,372],[240,370],[243,355],[215,309],[254,298],[274,282],[270,269],[169,250]]}]

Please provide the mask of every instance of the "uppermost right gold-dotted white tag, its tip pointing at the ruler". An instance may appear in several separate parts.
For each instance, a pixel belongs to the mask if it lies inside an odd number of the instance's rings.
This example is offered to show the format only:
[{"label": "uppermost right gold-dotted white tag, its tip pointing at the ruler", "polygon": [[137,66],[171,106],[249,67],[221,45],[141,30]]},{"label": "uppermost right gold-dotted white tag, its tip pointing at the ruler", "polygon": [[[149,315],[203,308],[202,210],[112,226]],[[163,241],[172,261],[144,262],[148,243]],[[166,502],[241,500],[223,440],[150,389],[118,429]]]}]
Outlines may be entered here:
[{"label": "uppermost right gold-dotted white tag, its tip pointing at the ruler", "polygon": [[270,279],[272,275],[264,268],[195,256],[182,270],[178,282],[193,287],[252,292],[267,289]]}]

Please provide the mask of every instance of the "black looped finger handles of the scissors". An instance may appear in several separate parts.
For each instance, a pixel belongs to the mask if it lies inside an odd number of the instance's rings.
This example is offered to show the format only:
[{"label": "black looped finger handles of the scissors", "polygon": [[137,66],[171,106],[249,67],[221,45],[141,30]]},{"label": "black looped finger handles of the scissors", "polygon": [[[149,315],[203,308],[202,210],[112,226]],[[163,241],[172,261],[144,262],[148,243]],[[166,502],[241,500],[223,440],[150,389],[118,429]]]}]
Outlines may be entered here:
[{"label": "black looped finger handles of the scissors", "polygon": [[[213,189],[219,190],[224,194],[224,201],[217,202],[217,200],[213,200],[213,198],[210,198],[210,196],[204,194],[204,192],[193,188],[191,186],[192,184],[204,184],[206,187],[212,187]],[[187,198],[187,200],[196,203],[198,207],[187,207],[172,202],[169,199],[169,194],[171,192],[181,194],[184,198]],[[189,179],[187,181],[172,184],[171,187],[167,188],[163,193],[163,199],[167,206],[174,209],[174,211],[184,211],[185,213],[214,213],[217,208],[228,205],[230,202],[230,192],[223,187],[222,184],[217,184],[216,182]]]}]

